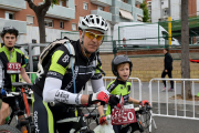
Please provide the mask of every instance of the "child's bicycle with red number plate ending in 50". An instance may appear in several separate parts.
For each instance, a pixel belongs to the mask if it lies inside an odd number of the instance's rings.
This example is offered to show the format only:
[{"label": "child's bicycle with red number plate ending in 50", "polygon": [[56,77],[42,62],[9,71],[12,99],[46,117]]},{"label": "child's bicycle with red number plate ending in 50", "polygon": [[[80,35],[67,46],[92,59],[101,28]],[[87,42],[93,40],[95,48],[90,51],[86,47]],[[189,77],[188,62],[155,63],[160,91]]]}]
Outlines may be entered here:
[{"label": "child's bicycle with red number plate ending in 50", "polygon": [[[145,104],[144,106],[134,108],[133,104],[126,103],[124,105],[124,108],[125,109],[134,109],[134,111],[128,110],[128,112],[123,112],[122,110],[124,110],[124,109],[121,108],[117,111],[112,110],[113,112],[111,115],[112,125],[122,125],[121,133],[134,133],[136,131],[144,133],[147,130],[149,130],[150,116],[151,116],[150,115],[150,110],[151,110],[150,105]],[[134,114],[135,114],[135,116],[134,116]],[[125,120],[125,122],[123,120]],[[126,123],[126,124],[124,124],[124,123]],[[95,131],[98,131],[98,127],[95,127]]]}]

